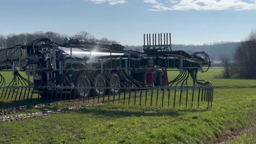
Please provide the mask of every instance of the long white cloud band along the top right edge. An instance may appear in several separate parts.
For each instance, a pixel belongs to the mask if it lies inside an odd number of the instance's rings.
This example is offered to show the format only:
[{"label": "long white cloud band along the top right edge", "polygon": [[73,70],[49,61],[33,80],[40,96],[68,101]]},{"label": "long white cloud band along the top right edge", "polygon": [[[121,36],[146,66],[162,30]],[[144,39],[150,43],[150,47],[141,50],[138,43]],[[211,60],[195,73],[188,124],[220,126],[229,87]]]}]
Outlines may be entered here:
[{"label": "long white cloud band along the top right edge", "polygon": [[253,10],[256,0],[144,0],[151,3],[151,11],[166,10]]}]

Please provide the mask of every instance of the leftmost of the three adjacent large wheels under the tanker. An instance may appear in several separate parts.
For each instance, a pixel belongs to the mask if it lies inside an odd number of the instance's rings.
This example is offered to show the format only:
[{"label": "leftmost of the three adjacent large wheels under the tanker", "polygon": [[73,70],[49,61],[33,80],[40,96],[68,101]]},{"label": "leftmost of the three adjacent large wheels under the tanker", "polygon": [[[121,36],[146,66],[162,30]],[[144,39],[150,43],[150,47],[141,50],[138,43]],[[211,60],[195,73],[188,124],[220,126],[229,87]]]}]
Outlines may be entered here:
[{"label": "leftmost of the three adjacent large wheels under the tanker", "polygon": [[77,76],[75,77],[75,87],[85,87],[85,88],[79,88],[74,90],[74,97],[75,98],[83,98],[83,97],[88,97],[90,94],[90,82],[87,79],[86,73],[78,73]]}]

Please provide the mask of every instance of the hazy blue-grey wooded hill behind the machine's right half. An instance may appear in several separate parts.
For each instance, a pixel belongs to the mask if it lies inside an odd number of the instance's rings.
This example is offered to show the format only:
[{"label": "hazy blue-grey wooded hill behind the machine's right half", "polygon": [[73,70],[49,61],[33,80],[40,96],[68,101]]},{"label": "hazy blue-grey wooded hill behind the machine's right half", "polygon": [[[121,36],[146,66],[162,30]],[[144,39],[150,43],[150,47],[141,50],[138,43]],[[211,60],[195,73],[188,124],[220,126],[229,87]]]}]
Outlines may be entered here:
[{"label": "hazy blue-grey wooded hill behind the machine's right half", "polygon": [[[215,43],[211,45],[176,45],[172,44],[172,50],[183,50],[189,54],[195,51],[205,51],[210,55],[211,61],[220,61],[220,57],[230,55],[235,52],[238,43]],[[143,46],[125,45],[125,50],[143,51]]]}]

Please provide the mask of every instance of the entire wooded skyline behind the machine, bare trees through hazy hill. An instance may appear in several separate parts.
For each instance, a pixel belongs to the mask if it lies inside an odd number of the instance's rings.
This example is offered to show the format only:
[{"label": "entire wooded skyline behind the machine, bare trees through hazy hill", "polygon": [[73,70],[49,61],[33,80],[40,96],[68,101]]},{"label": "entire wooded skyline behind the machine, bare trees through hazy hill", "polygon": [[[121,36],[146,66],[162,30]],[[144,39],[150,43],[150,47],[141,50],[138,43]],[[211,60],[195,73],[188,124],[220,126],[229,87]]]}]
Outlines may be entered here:
[{"label": "entire wooded skyline behind the machine, bare trees through hazy hill", "polygon": [[[6,47],[13,47],[15,45],[26,45],[30,41],[37,38],[49,38],[55,43],[62,44],[65,38],[74,38],[83,41],[92,41],[97,43],[117,44],[115,40],[107,38],[96,39],[94,35],[82,31],[74,35],[60,34],[56,32],[34,32],[21,34],[0,34],[0,49]],[[198,51],[205,51],[210,55],[211,61],[221,61],[221,57],[234,53],[238,43],[212,43],[210,45],[176,45],[172,44],[172,50],[183,50],[192,54]],[[143,46],[125,45],[125,50],[143,51]]]}]

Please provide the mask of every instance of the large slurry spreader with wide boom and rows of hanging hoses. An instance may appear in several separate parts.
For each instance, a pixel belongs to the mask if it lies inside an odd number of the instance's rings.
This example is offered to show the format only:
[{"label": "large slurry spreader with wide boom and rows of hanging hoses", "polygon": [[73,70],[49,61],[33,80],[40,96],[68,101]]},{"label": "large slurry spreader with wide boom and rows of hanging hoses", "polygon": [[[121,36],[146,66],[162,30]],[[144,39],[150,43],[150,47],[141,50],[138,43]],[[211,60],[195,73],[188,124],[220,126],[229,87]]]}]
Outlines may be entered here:
[{"label": "large slurry spreader with wide boom and rows of hanging hoses", "polygon": [[[144,34],[143,50],[77,39],[57,44],[48,38],[1,49],[0,97],[173,107],[197,101],[197,106],[212,106],[212,84],[197,80],[198,71],[211,67],[207,53],[173,51],[170,33]],[[7,71],[13,75],[10,82]]]}]

